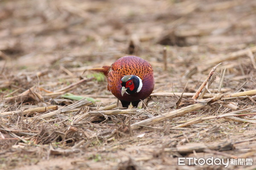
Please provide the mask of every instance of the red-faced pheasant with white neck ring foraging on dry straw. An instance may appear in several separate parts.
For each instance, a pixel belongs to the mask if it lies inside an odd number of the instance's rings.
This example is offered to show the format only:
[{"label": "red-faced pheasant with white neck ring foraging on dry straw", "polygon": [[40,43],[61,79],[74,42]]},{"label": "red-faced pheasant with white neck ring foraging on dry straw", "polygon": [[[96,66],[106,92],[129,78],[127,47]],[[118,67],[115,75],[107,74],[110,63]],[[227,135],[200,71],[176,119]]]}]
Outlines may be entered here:
[{"label": "red-faced pheasant with white neck ring foraging on dry straw", "polygon": [[121,57],[111,66],[89,70],[105,74],[108,90],[120,100],[124,108],[128,108],[130,103],[137,108],[139,102],[147,98],[154,89],[153,68],[140,57]]}]

